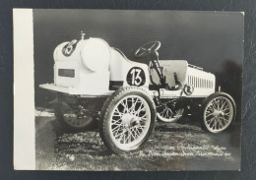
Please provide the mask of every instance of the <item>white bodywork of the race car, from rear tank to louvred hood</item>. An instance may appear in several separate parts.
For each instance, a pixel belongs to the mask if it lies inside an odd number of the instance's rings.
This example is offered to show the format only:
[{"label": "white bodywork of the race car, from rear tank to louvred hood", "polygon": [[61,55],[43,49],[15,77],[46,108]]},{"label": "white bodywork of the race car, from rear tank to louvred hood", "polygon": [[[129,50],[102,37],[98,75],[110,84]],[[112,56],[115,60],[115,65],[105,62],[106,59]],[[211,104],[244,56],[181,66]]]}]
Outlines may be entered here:
[{"label": "white bodywork of the race car, from rear tank to louvred hood", "polygon": [[[54,83],[40,85],[46,90],[93,97],[110,95],[118,87],[137,86],[160,98],[206,97],[215,92],[215,75],[189,65],[186,60],[159,61],[165,83],[174,87],[175,73],[182,89],[149,90],[150,76],[155,83],[160,81],[156,70],[129,60],[121,50],[110,47],[100,38],[63,42],[55,48],[53,56]],[[185,86],[190,86],[192,93],[185,93]]]}]

